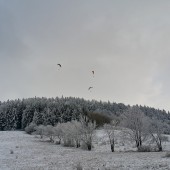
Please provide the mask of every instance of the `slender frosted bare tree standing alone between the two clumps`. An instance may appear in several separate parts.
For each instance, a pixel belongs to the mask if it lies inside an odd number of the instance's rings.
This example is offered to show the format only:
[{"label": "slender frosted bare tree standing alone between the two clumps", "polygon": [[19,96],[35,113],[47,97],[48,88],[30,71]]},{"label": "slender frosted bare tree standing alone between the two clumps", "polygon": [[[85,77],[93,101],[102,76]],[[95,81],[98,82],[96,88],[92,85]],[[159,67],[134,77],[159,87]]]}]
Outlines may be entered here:
[{"label": "slender frosted bare tree standing alone between the two clumps", "polygon": [[112,121],[111,124],[104,124],[104,130],[107,134],[107,136],[109,137],[109,142],[110,142],[110,147],[111,147],[111,151],[114,152],[114,148],[115,148],[115,129],[117,126],[118,122],[117,121]]}]

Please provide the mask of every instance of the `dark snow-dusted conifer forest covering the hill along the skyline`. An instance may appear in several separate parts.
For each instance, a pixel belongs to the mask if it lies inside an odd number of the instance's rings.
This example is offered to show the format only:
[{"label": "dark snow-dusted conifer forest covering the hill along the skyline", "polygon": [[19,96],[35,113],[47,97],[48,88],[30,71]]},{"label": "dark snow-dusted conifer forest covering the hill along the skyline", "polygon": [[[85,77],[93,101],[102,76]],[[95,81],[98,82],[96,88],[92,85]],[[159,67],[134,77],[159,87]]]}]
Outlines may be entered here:
[{"label": "dark snow-dusted conifer forest covering the hill along the skyline", "polygon": [[[56,125],[78,120],[80,114],[87,115],[98,125],[119,117],[130,106],[122,103],[84,100],[74,97],[28,98],[0,102],[0,130],[25,129],[31,122],[36,125]],[[139,107],[145,115],[170,124],[170,114],[146,106]]]}]

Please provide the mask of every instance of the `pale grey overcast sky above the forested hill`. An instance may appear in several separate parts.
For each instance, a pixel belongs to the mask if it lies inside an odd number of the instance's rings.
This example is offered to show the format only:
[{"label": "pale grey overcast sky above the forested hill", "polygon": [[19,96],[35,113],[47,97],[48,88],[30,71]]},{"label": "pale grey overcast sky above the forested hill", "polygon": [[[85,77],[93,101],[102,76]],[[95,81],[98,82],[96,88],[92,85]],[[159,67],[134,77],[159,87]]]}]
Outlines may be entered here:
[{"label": "pale grey overcast sky above the forested hill", "polygon": [[170,111],[169,9],[169,0],[0,0],[0,100],[63,95]]}]

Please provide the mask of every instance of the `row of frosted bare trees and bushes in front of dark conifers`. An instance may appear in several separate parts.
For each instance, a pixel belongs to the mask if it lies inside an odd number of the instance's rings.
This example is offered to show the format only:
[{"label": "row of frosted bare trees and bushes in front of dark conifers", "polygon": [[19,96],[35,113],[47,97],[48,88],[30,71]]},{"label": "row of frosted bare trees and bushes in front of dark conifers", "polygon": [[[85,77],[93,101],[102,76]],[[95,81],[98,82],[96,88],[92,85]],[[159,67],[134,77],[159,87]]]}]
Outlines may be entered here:
[{"label": "row of frosted bare trees and bushes in front of dark conifers", "polygon": [[[38,135],[41,139],[67,147],[84,148],[91,150],[96,132],[96,121],[90,120],[87,115],[80,115],[79,121],[72,120],[66,123],[52,125],[39,125],[31,123],[25,128],[28,134]],[[129,107],[116,120],[102,126],[108,137],[110,149],[115,151],[116,141],[122,143],[133,143],[139,152],[157,152],[163,150],[163,143],[168,141],[162,121],[147,117],[137,106]],[[119,139],[119,140],[118,140]]]}]

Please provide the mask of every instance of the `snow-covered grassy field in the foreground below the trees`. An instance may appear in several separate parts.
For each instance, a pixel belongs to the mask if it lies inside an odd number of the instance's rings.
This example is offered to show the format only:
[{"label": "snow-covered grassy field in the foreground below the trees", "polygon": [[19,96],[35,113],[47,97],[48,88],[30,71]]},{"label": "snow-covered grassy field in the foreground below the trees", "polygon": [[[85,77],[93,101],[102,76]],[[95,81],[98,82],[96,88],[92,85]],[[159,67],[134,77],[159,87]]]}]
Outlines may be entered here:
[{"label": "snow-covered grassy field in the foreground below the trees", "polygon": [[[107,138],[97,131],[92,151],[55,145],[21,131],[0,132],[0,170],[74,170],[80,163],[83,170],[170,170],[170,158],[164,152],[134,152],[117,142],[110,151]],[[105,168],[104,168],[105,167]]]}]

